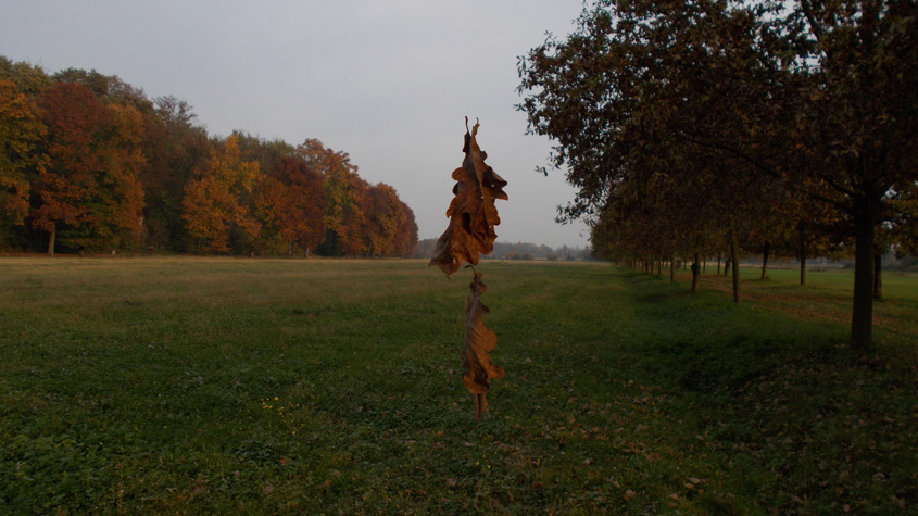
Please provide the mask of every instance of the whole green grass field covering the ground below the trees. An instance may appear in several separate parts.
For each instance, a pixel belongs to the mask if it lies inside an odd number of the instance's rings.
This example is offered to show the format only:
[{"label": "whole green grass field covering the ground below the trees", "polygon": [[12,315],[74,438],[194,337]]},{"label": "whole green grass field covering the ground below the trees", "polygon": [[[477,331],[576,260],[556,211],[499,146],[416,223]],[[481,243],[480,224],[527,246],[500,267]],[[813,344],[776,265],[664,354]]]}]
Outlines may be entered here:
[{"label": "whole green grass field covering the ground below the trees", "polygon": [[0,514],[918,514],[918,276],[0,260]]}]

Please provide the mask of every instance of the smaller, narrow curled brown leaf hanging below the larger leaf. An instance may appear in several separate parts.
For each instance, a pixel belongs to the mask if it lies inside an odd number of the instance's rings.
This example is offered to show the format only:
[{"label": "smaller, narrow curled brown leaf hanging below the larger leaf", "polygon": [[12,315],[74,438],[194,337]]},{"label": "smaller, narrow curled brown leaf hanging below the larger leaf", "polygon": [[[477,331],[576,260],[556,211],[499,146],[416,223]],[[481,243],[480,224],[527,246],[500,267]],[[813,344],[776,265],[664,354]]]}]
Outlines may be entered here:
[{"label": "smaller, narrow curled brown leaf hanging below the larger leaf", "polygon": [[481,316],[490,312],[481,302],[481,294],[488,288],[481,282],[481,273],[475,273],[469,284],[471,295],[465,304],[465,349],[462,354],[462,381],[475,399],[475,420],[481,419],[488,410],[486,395],[491,389],[491,380],[503,378],[503,367],[491,364],[488,352],[498,347],[498,336],[485,327]]}]

